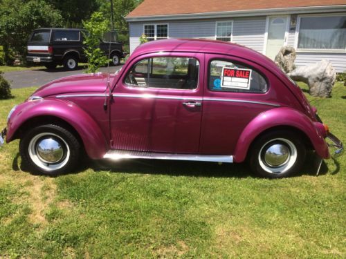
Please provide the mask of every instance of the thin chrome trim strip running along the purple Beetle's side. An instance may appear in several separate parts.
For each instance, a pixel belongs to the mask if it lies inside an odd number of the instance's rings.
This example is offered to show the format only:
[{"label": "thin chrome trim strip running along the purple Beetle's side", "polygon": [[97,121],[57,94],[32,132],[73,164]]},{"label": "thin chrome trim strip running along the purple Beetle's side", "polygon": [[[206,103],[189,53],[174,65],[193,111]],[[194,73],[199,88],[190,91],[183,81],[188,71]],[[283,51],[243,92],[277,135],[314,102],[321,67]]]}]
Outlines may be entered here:
[{"label": "thin chrome trim strip running along the purple Beetle's side", "polygon": [[[114,97],[129,97],[129,98],[147,98],[147,99],[175,99],[175,100],[193,100],[193,101],[217,101],[217,102],[242,102],[246,104],[262,104],[268,106],[280,107],[280,104],[273,104],[271,102],[258,102],[243,99],[222,99],[213,97],[184,97],[184,96],[174,96],[174,95],[151,95],[151,94],[122,94],[113,93]],[[57,95],[57,98],[69,98],[69,97],[106,97],[108,94],[103,93],[92,93],[92,94],[75,94],[75,95]]]}]

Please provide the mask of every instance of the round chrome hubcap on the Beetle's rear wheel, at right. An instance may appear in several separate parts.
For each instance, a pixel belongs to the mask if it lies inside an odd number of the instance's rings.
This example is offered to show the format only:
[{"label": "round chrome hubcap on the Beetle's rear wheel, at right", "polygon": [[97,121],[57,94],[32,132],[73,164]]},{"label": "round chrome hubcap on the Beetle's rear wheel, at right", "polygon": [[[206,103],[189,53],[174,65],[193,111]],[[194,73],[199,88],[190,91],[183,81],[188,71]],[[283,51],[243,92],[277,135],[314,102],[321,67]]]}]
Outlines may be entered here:
[{"label": "round chrome hubcap on the Beetle's rear wheel, at right", "polygon": [[289,158],[289,148],[283,144],[273,144],[264,153],[264,161],[268,166],[281,166]]}]

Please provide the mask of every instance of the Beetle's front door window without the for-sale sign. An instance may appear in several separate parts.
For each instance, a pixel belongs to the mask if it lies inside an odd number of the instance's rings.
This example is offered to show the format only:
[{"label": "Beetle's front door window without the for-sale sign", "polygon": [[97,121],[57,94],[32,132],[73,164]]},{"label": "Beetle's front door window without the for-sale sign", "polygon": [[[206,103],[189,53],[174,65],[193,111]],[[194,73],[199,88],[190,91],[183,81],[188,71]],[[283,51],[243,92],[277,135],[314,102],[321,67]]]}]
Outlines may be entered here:
[{"label": "Beetle's front door window without the for-sale sign", "polygon": [[138,61],[125,84],[150,88],[196,89],[199,61],[192,57],[154,57]]}]

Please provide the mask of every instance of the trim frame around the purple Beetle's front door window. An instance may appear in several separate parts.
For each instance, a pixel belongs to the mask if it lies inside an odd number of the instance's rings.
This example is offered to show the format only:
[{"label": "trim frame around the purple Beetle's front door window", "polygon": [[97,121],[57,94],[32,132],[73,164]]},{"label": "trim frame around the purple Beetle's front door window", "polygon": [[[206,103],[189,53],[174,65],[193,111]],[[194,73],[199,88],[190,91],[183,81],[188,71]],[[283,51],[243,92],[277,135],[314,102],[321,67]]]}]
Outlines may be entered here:
[{"label": "trim frame around the purple Beetle's front door window", "polygon": [[[145,59],[154,59],[156,57],[181,57],[181,58],[186,58],[186,59],[196,59],[199,62],[199,68],[198,68],[198,77],[197,77],[197,84],[196,84],[196,88],[194,89],[181,89],[181,88],[159,88],[159,87],[150,87],[150,86],[136,86],[134,84],[127,84],[126,83],[126,78],[127,75],[130,73],[131,69],[136,66],[136,64],[138,64],[140,61],[143,61]],[[149,63],[148,63],[148,77],[149,77]],[[160,89],[160,90],[181,90],[181,91],[189,91],[189,92],[195,92],[199,89],[199,77],[201,76],[201,60],[199,60],[197,57],[190,57],[190,56],[153,56],[153,57],[145,57],[143,59],[139,59],[137,61],[134,62],[134,64],[127,70],[126,75],[123,77],[122,79],[122,85],[126,86],[127,88],[131,88],[131,89]]]}]

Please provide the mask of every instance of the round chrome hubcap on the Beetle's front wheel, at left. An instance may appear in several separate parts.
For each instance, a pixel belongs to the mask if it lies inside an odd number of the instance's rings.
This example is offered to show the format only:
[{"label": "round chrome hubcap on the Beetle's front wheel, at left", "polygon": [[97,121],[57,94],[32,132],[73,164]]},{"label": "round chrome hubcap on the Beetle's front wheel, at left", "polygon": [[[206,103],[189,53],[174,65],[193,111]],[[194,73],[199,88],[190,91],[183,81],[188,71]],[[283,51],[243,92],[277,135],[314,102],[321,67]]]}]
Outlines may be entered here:
[{"label": "round chrome hubcap on the Beetle's front wheel, at left", "polygon": [[57,163],[64,156],[62,143],[53,137],[39,140],[37,144],[37,155],[44,162]]}]

